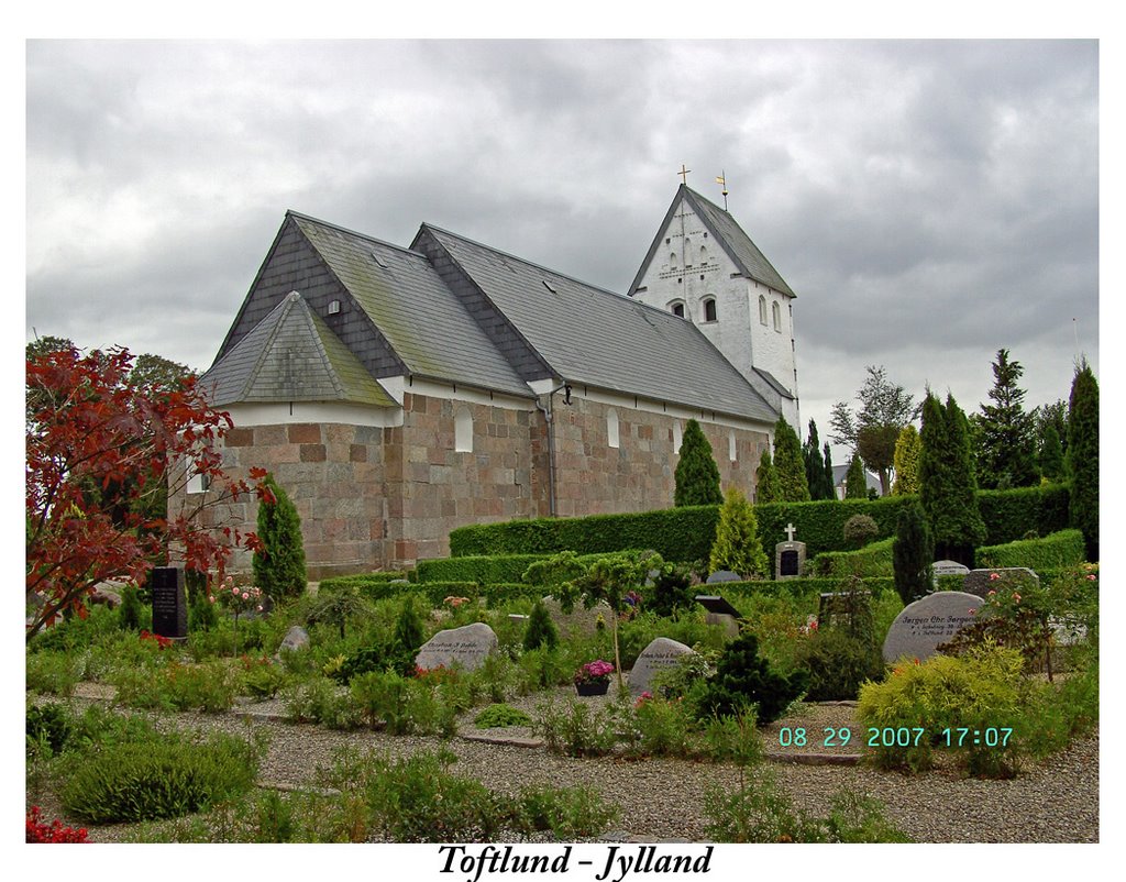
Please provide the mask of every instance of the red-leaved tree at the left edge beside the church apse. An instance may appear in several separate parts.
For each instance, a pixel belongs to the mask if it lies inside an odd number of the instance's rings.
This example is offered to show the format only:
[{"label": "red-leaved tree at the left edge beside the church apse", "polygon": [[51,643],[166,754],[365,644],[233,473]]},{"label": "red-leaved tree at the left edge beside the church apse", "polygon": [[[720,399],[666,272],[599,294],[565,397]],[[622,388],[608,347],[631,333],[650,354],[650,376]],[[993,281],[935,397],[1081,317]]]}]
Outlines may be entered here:
[{"label": "red-leaved tree at the left edge beside the church apse", "polygon": [[[269,499],[251,469],[248,483],[222,469],[215,442],[231,427],[185,377],[175,386],[137,383],[126,349],[82,355],[72,345],[27,359],[27,597],[44,603],[30,639],[106,579],[143,583],[176,556],[222,577],[234,546],[259,546],[253,533],[212,523],[207,510],[249,493]],[[163,499],[203,475],[206,493],[169,515]]]}]

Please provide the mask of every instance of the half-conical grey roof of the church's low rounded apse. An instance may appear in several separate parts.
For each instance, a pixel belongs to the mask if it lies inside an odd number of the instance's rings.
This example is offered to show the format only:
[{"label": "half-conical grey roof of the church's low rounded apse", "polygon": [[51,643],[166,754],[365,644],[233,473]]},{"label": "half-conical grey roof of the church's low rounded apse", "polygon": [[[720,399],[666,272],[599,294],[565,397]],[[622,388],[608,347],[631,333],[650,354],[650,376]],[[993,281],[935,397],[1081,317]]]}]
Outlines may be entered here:
[{"label": "half-conical grey roof of the church's low rounded apse", "polygon": [[254,401],[395,401],[293,292],[203,375],[215,407]]}]

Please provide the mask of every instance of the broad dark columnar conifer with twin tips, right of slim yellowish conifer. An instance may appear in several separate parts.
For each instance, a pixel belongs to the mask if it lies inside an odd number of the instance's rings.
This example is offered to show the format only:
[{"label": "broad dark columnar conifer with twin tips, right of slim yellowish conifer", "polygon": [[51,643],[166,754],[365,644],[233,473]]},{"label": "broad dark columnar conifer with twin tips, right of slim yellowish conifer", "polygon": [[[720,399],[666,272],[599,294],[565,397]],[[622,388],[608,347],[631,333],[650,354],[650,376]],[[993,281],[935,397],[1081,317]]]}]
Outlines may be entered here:
[{"label": "broad dark columnar conifer with twin tips, right of slim yellowish conifer", "polygon": [[935,553],[972,568],[974,549],[985,538],[985,523],[977,508],[968,421],[953,395],[947,394],[944,408],[933,393],[927,393],[920,437],[919,499]]}]

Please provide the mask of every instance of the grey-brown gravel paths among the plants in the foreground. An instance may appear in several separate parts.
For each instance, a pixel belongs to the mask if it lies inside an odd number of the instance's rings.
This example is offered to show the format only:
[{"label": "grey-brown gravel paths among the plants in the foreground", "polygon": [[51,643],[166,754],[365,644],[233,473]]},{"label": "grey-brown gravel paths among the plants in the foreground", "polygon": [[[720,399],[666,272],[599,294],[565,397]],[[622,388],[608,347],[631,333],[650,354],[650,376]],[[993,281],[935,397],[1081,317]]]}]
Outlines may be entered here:
[{"label": "grey-brown gravel paths among the plants in the foreground", "polygon": [[[74,701],[105,701],[104,694],[80,692]],[[556,697],[573,695],[560,689]],[[512,702],[531,713],[544,696]],[[597,705],[606,698],[584,700]],[[296,725],[269,719],[283,712],[280,703],[249,705],[254,714],[244,719],[234,713],[208,716],[177,714],[170,722],[200,730],[245,732],[262,729],[269,734],[269,750],[260,772],[268,785],[301,786],[313,783],[318,765],[329,761],[333,749],[354,745],[404,756],[419,749],[446,747],[457,756],[454,770],[480,779],[486,786],[515,792],[521,785],[587,784],[605,799],[622,807],[615,836],[637,841],[705,841],[706,818],[703,794],[709,784],[734,789],[739,769],[730,765],[672,759],[626,760],[605,757],[571,759],[544,748],[483,743],[455,738],[393,737],[382,732],[337,732],[314,725]],[[471,712],[462,721],[463,733],[531,738],[529,729],[476,730]],[[816,733],[804,752],[859,752],[861,728],[848,704],[799,705],[794,714],[766,727],[763,738],[776,754],[781,727],[804,727]],[[820,745],[824,727],[852,729],[851,746],[826,749]],[[796,748],[790,748],[796,750]],[[884,803],[887,818],[917,841],[922,843],[1096,843],[1099,836],[1099,740],[1098,736],[1076,740],[1072,747],[1047,761],[1026,769],[1013,781],[980,781],[962,777],[955,769],[939,768],[926,775],[904,776],[864,765],[799,765],[771,763],[778,781],[808,812],[825,814],[832,794],[841,787],[873,796]],[[48,807],[45,807],[48,808]],[[90,831],[95,841],[127,841],[127,826]]]}]

